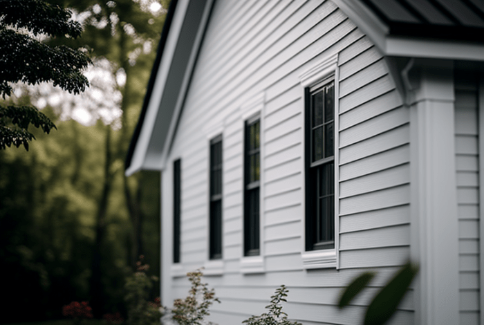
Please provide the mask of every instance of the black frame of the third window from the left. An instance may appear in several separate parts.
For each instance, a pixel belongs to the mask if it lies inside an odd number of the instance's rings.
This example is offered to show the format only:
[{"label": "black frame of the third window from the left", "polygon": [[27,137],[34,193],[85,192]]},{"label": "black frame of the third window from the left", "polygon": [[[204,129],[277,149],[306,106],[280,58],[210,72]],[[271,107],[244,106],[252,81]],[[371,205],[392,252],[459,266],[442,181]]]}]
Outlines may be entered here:
[{"label": "black frame of the third window from the left", "polygon": [[[250,149],[250,127],[259,124],[259,147]],[[261,256],[261,114],[256,113],[244,122],[244,182],[243,182],[243,256]],[[251,151],[251,152],[250,152]],[[250,157],[259,156],[257,180],[250,180]],[[255,161],[254,161],[255,163]],[[251,194],[257,193],[258,204],[250,204]],[[252,214],[251,214],[252,212]],[[255,213],[255,214],[254,214]]]}]

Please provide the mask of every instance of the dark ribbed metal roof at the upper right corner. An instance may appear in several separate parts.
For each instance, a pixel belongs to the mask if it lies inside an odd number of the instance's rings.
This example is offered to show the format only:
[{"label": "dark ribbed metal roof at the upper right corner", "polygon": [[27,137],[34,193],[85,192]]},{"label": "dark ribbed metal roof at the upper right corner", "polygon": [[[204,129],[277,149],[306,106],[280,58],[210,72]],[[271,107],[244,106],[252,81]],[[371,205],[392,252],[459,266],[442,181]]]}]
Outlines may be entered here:
[{"label": "dark ribbed metal roof at the upper right corner", "polygon": [[484,41],[483,0],[360,0],[389,27],[389,34],[455,41]]}]

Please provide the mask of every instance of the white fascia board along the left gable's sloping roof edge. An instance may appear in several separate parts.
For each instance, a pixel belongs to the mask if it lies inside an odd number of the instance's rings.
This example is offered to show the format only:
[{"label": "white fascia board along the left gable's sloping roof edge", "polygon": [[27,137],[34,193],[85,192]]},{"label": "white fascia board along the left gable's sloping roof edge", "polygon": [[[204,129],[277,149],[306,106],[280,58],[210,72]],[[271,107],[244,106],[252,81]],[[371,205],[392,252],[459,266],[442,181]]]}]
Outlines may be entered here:
[{"label": "white fascia board along the left gable's sloping roof edge", "polygon": [[[178,43],[178,37],[180,35],[180,30],[183,26],[183,21],[187,12],[189,0],[179,0],[177,8],[175,11],[174,19],[171,23],[170,32],[167,38],[167,44],[163,53],[160,66],[156,72],[156,79],[154,82],[153,89],[164,89],[167,82],[167,77],[169,73],[169,68],[173,60],[176,44]],[[147,113],[145,115],[145,120],[142,124],[142,129],[140,131],[140,136],[136,142],[135,149],[133,151],[133,158],[131,160],[131,165],[124,172],[126,176],[130,176],[136,171],[141,169],[153,169],[146,165],[147,163],[147,153],[149,150],[149,142],[151,139],[151,133],[153,133],[153,128],[156,122],[156,116],[158,115],[158,110],[160,108],[162,92],[153,91],[151,97],[149,98],[149,104],[147,108]]]}]

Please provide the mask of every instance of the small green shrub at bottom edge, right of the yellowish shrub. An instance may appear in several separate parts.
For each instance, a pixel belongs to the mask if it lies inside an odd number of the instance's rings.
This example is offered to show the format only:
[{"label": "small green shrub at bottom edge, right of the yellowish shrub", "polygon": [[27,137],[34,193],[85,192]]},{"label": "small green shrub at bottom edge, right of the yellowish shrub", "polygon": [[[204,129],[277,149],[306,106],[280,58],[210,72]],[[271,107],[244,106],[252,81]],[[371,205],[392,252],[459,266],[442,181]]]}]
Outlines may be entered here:
[{"label": "small green shrub at bottom edge, right of the yellowish shrub", "polygon": [[281,285],[276,289],[274,295],[270,297],[270,304],[266,306],[266,309],[269,310],[269,313],[263,313],[260,316],[252,316],[249,319],[245,319],[243,323],[248,325],[300,325],[298,322],[290,322],[288,319],[288,314],[282,311],[281,301],[287,302],[285,297],[288,296],[288,292],[288,288],[286,288],[284,285]]}]

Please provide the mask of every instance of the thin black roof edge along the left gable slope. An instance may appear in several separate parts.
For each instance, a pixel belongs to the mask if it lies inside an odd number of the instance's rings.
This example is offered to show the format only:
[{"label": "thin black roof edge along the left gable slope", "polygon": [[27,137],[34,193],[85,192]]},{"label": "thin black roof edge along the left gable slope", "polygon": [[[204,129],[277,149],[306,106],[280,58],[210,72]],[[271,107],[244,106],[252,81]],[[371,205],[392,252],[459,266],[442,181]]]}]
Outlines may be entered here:
[{"label": "thin black roof edge along the left gable slope", "polygon": [[149,76],[149,82],[147,85],[145,100],[143,101],[140,118],[138,120],[138,124],[136,124],[136,129],[134,130],[133,136],[131,137],[131,142],[129,143],[128,153],[124,162],[124,170],[128,169],[131,165],[131,159],[133,158],[136,142],[138,142],[138,138],[140,136],[140,132],[143,126],[143,121],[145,120],[149,99],[151,97],[151,93],[153,92],[153,86],[156,80],[156,72],[158,71],[158,66],[160,66],[161,57],[163,55],[163,51],[165,50],[165,44],[167,43],[168,33],[171,27],[171,21],[173,21],[177,2],[178,0],[171,0],[168,8],[167,17],[165,18],[165,24],[163,24],[163,29],[161,31],[160,43],[158,44],[156,59],[155,62],[153,62],[153,68],[151,68],[151,75]]}]

